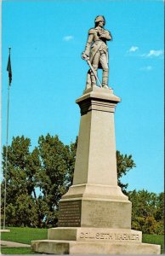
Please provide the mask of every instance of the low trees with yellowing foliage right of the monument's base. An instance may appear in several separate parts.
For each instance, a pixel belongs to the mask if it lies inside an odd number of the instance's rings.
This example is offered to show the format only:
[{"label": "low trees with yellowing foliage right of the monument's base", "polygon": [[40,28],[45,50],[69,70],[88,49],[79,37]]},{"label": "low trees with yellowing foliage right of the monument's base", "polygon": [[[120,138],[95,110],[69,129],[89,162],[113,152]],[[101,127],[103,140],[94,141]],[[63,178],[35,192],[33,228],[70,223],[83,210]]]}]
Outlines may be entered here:
[{"label": "low trees with yellowing foliage right of the monument's base", "polygon": [[132,228],[145,234],[162,235],[163,230],[163,193],[156,195],[147,190],[128,192],[132,201]]}]

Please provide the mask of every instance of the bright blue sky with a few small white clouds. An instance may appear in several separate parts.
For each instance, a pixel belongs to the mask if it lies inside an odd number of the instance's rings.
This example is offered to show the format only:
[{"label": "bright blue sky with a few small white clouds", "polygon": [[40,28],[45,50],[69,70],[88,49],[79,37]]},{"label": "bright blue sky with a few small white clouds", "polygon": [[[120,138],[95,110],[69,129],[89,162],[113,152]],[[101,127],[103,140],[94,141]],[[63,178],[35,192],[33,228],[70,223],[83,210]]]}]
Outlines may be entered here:
[{"label": "bright blue sky with a few small white clouds", "polygon": [[9,143],[48,132],[75,141],[88,65],[81,59],[88,29],[104,15],[113,41],[110,85],[122,102],[115,113],[117,150],[132,154],[136,168],[122,180],[128,189],[163,190],[163,2],[3,1],[2,144],[6,142],[9,46]]}]

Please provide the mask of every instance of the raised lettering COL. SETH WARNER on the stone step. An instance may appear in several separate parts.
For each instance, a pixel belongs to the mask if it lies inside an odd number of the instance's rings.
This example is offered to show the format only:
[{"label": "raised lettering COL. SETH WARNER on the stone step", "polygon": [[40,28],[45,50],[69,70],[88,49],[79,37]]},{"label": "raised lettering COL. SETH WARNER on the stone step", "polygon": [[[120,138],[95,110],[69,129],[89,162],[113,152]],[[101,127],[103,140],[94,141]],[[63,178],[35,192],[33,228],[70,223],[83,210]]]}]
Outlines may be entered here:
[{"label": "raised lettering COL. SETH WARNER on the stone step", "polygon": [[100,232],[81,232],[82,240],[108,240],[108,241],[140,241],[139,234],[130,233],[100,233]]}]

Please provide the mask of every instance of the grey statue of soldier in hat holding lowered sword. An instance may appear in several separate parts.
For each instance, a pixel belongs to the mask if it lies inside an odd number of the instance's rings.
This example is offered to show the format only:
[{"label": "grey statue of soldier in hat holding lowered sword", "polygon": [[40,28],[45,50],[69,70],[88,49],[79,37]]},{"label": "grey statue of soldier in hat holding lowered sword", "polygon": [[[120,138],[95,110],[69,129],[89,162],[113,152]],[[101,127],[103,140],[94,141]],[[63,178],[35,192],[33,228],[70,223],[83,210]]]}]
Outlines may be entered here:
[{"label": "grey statue of soldier in hat holding lowered sword", "polygon": [[108,67],[108,47],[106,41],[112,40],[111,32],[104,29],[105,17],[95,18],[95,27],[89,29],[86,48],[82,54],[83,60],[88,61],[91,67],[88,70],[86,89],[97,85],[97,70],[103,70],[102,87],[108,88],[109,67]]}]

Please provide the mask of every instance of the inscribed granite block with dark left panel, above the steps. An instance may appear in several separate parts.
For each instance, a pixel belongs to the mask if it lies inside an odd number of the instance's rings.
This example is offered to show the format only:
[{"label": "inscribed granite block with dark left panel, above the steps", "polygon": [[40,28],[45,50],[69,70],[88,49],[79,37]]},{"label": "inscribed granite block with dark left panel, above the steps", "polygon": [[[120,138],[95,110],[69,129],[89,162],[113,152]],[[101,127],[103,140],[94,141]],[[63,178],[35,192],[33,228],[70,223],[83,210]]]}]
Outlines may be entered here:
[{"label": "inscribed granite block with dark left panel, above the steps", "polygon": [[62,199],[58,227],[131,229],[131,206],[128,200]]}]

